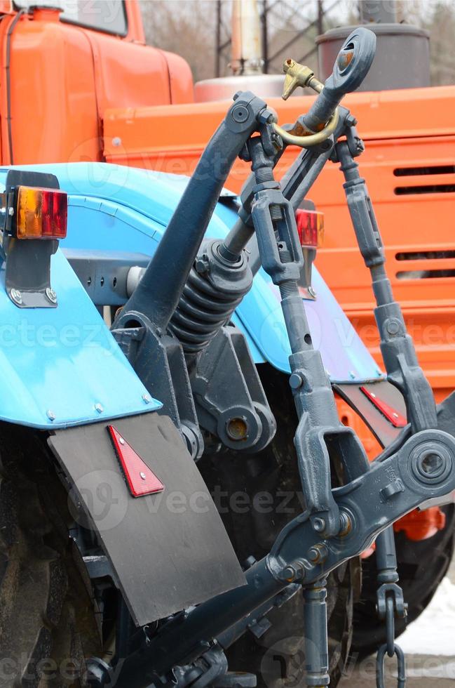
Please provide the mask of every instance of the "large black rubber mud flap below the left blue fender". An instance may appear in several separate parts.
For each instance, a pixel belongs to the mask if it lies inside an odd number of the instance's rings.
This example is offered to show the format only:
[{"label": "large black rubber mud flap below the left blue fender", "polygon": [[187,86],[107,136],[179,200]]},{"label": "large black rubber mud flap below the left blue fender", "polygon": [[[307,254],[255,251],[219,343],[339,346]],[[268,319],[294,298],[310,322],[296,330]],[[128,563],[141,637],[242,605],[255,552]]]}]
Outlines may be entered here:
[{"label": "large black rubber mud flap below the left blue fender", "polygon": [[[163,491],[130,494],[109,424]],[[245,585],[215,503],[170,418],[144,414],[56,430],[48,443],[72,486],[74,517],[95,530],[137,626]]]}]

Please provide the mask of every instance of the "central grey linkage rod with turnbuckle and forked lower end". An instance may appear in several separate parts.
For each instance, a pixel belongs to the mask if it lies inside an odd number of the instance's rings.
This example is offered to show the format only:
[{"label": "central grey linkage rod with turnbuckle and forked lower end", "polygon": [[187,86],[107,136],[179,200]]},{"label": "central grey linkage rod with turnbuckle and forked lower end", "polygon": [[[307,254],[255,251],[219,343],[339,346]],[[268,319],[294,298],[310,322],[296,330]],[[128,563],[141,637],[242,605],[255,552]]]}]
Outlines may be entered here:
[{"label": "central grey linkage rod with turnbuckle and forked lower end", "polygon": [[[341,425],[329,377],[320,352],[313,348],[297,280],[303,265],[294,209],[273,178],[271,150],[262,136],[250,139],[248,150],[256,186],[252,220],[264,270],[281,293],[281,307],[290,340],[290,385],[299,416],[294,438],[306,506],[315,529],[336,535],[339,513],[330,484],[330,458],[349,456],[350,477],[369,468],[365,451],[351,428]],[[330,443],[327,442],[330,437]],[[330,449],[329,449],[330,444]]]}]

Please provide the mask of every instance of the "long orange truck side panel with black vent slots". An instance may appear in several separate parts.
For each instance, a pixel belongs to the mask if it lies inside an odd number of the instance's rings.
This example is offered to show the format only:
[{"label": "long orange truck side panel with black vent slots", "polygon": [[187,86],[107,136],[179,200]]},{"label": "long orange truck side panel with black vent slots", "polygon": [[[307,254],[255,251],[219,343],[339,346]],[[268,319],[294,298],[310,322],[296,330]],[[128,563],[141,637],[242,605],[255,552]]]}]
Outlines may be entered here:
[{"label": "long orange truck side panel with black vent slots", "polygon": [[[313,100],[271,99],[269,105],[283,123],[306,112]],[[345,102],[358,118],[367,146],[360,171],[374,202],[394,293],[440,400],[455,386],[455,86],[353,93]],[[191,174],[227,107],[229,101],[109,110],[104,114],[106,159]],[[121,145],[114,147],[114,138]],[[287,149],[278,177],[298,152]],[[419,173],[395,172],[402,168]],[[249,171],[238,161],[228,186],[240,190]],[[355,244],[342,183],[338,166],[330,163],[311,191],[325,212],[325,245],[316,264],[380,362],[369,272]],[[427,189],[421,193],[412,187]]]}]

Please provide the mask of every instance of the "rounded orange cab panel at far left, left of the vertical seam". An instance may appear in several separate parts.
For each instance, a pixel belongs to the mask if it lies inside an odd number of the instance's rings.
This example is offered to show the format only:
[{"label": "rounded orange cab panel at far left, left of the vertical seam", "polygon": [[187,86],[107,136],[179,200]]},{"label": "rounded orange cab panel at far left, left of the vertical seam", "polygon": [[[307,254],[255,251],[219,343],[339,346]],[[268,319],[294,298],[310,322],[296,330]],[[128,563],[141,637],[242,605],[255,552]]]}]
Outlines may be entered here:
[{"label": "rounded orange cab panel at far left, left of the vertical seam", "polygon": [[[11,128],[15,164],[96,159],[100,150],[90,44],[79,29],[22,17],[11,36]],[[0,23],[2,59],[13,16]],[[6,79],[1,79],[1,162],[8,146]]]}]

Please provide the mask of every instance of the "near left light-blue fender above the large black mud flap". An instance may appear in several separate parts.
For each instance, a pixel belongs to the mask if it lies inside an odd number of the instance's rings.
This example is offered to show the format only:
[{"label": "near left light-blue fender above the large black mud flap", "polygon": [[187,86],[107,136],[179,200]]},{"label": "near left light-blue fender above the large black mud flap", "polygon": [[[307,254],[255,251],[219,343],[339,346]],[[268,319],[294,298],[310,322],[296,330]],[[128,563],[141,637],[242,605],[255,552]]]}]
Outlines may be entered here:
[{"label": "near left light-blue fender above the large black mud flap", "polygon": [[20,308],[0,270],[0,419],[43,430],[161,408],[130,366],[59,249],[55,308]]}]

